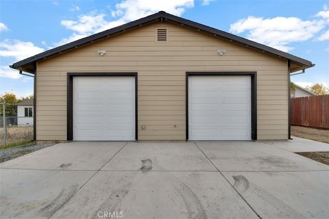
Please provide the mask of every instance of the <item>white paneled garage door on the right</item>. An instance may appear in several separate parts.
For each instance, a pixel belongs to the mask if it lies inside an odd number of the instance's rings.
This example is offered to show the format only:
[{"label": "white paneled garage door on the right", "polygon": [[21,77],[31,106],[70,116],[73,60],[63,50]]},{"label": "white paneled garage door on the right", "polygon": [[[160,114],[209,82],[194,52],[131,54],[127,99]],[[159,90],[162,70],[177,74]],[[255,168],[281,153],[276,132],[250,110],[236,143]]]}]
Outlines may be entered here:
[{"label": "white paneled garage door on the right", "polygon": [[251,140],[251,77],[188,77],[189,140]]}]

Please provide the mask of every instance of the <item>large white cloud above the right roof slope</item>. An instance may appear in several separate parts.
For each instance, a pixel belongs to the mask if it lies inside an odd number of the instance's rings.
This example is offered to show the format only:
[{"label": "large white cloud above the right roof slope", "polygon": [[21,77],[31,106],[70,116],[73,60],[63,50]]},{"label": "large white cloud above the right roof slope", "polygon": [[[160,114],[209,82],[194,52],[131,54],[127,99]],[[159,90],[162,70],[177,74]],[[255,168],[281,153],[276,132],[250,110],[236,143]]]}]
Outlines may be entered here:
[{"label": "large white cloud above the right roof slope", "polygon": [[282,51],[290,51],[291,42],[302,42],[313,38],[326,23],[321,20],[302,21],[296,17],[262,18],[249,16],[230,26],[234,34],[247,32],[247,38],[267,44]]}]

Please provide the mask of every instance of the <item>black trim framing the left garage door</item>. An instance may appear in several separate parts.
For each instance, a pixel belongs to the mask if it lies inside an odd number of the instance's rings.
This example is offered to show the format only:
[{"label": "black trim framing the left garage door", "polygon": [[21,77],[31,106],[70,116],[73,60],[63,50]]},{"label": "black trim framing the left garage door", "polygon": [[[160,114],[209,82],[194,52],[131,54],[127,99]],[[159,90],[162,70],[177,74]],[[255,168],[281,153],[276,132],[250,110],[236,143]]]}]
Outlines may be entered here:
[{"label": "black trim framing the left garage door", "polygon": [[67,140],[73,140],[73,77],[76,76],[135,77],[135,138],[138,140],[137,73],[67,73]]}]

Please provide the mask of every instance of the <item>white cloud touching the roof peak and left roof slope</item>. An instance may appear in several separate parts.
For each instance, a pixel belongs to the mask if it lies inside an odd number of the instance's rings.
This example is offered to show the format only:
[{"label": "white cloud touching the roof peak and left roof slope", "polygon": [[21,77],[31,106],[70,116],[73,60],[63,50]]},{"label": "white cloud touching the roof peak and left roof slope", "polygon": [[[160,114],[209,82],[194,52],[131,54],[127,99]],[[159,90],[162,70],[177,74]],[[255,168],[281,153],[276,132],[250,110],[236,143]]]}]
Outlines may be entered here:
[{"label": "white cloud touching the roof peak and left roof slope", "polygon": [[112,21],[106,19],[106,14],[97,14],[96,11],[78,16],[77,20],[63,20],[61,25],[66,27],[66,29],[71,29],[74,33],[54,45],[60,46],[91,34],[123,25],[143,16],[154,14],[160,10],[181,16],[186,8],[193,8],[193,6],[194,0],[123,0],[115,5],[115,10],[110,12]]}]

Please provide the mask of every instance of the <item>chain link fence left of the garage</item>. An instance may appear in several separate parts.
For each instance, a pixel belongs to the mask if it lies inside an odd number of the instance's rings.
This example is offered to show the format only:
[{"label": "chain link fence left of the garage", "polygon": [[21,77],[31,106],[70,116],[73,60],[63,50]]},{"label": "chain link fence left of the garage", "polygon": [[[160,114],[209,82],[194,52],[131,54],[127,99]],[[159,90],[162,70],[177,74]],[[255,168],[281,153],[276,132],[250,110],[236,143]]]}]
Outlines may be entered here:
[{"label": "chain link fence left of the garage", "polygon": [[0,146],[33,140],[33,107],[33,104],[26,101],[0,103]]}]

